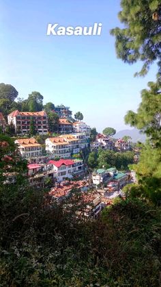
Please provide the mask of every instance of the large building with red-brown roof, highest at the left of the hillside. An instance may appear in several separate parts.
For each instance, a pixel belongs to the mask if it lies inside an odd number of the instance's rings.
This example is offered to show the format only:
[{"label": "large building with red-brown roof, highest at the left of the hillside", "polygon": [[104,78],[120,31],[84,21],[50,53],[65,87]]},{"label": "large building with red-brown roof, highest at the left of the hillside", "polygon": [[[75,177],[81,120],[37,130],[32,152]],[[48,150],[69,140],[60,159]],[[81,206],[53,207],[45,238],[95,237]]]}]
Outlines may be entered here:
[{"label": "large building with red-brown roof, highest at the left of the hillside", "polygon": [[29,134],[31,120],[33,120],[35,130],[38,134],[47,134],[48,117],[46,112],[19,112],[15,110],[8,114],[9,125],[13,123],[15,132],[18,134]]}]

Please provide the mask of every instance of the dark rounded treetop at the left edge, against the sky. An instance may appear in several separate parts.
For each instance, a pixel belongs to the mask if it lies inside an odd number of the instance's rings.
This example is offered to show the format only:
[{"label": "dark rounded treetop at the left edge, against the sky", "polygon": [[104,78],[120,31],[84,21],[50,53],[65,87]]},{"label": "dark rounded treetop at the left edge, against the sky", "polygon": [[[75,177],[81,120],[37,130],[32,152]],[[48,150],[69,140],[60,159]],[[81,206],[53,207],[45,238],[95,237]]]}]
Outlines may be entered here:
[{"label": "dark rounded treetop at the left edge, against the sky", "polygon": [[0,99],[8,99],[10,103],[16,99],[18,91],[10,84],[0,84]]}]

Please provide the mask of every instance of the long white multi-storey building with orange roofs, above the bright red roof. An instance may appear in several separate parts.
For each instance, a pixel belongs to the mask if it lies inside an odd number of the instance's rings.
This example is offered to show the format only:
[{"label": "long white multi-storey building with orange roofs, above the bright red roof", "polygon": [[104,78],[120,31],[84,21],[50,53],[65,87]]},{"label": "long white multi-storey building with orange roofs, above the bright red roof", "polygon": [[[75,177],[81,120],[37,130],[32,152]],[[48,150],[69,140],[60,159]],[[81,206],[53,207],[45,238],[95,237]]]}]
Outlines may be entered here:
[{"label": "long white multi-storey building with orange roofs, above the bright red roof", "polygon": [[65,134],[46,139],[46,152],[54,158],[70,158],[88,146],[85,134]]}]

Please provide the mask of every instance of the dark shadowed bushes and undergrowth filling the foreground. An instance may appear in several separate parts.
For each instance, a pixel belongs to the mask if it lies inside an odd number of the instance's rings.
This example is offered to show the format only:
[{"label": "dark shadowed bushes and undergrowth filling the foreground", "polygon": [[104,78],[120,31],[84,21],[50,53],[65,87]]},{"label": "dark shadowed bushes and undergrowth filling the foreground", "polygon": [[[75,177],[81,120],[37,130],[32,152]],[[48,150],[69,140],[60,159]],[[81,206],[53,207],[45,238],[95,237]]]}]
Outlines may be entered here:
[{"label": "dark shadowed bushes and undergrowth filling the foreground", "polygon": [[48,208],[41,190],[0,190],[1,286],[160,285],[160,210],[119,200],[90,221],[80,192]]}]

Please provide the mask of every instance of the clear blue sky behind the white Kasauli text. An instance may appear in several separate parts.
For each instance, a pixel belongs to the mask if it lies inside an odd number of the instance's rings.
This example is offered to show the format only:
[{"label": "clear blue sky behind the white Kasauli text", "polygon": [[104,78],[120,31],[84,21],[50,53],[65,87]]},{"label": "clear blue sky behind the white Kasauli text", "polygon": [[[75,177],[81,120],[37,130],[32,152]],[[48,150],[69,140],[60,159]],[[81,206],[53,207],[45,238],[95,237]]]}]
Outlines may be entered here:
[{"label": "clear blue sky behind the white Kasauli text", "polygon": [[[0,82],[19,97],[37,90],[44,103],[70,106],[99,132],[129,128],[123,117],[136,110],[141,90],[153,81],[134,78],[141,63],[118,60],[110,29],[119,26],[119,0],[0,0]],[[101,36],[46,36],[48,23],[90,26],[102,23]]]}]

